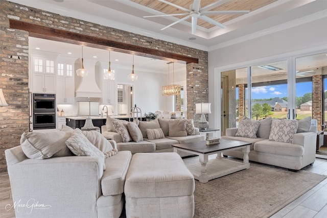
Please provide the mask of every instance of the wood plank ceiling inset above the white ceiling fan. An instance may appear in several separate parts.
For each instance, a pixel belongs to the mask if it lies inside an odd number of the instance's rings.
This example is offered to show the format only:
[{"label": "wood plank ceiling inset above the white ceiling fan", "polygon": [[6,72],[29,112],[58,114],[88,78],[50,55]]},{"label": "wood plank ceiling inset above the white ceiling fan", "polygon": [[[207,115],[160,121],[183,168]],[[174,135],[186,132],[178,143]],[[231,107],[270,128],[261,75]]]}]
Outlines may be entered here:
[{"label": "wood plank ceiling inset above the white ceiling fan", "polygon": [[[173,6],[167,5],[166,3],[162,3],[159,1],[149,1],[149,0],[130,0],[134,3],[146,6],[148,8],[154,9],[156,11],[160,11],[165,14],[176,14],[176,13],[185,13],[184,11],[175,8]],[[249,10],[250,12],[262,8],[266,5],[269,5],[273,2],[276,2],[277,0],[231,0],[223,5],[220,5],[216,8],[211,9],[210,11],[244,11]],[[183,0],[183,1],[174,1],[174,0],[168,0],[168,2],[171,2],[175,5],[181,6],[186,9],[190,9],[190,5],[192,5],[193,0]],[[212,4],[214,2],[217,2],[217,0],[202,0],[201,1],[201,7],[204,7],[206,5]],[[220,22],[224,23],[228,20],[234,19],[238,16],[241,16],[242,14],[223,14],[223,15],[208,15],[208,17]],[[176,16],[177,18],[183,18],[184,16]],[[191,18],[186,19],[186,21],[191,22]],[[203,28],[212,28],[215,27],[215,25],[208,23],[202,19],[198,19],[197,22],[198,26],[201,26]]]}]

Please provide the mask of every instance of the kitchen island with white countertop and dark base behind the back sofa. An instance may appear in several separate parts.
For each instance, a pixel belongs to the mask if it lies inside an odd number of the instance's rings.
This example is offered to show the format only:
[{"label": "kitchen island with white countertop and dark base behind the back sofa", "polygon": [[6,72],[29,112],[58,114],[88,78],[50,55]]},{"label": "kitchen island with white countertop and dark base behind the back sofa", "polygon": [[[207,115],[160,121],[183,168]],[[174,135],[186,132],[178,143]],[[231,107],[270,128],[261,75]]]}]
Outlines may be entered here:
[{"label": "kitchen island with white countertop and dark base behind the back sofa", "polygon": [[[101,126],[106,125],[107,117],[106,116],[66,116],[66,125],[76,129],[83,128],[85,125],[85,120],[87,117],[92,119],[92,123],[95,127],[99,127],[101,130]],[[115,119],[124,119],[129,121],[129,116],[127,115],[112,115],[110,116]],[[142,117],[142,121],[145,121],[145,117]]]}]

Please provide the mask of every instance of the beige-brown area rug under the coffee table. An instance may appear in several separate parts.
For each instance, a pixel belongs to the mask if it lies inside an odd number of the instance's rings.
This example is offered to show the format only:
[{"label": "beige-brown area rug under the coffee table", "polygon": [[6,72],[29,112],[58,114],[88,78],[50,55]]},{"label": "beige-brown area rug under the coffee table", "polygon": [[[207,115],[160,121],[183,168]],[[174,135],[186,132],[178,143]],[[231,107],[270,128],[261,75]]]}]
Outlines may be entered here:
[{"label": "beige-brown area rug under the coffee table", "polygon": [[[186,159],[186,165],[198,161]],[[251,162],[249,169],[204,184],[195,180],[194,218],[269,217],[326,177]]]}]

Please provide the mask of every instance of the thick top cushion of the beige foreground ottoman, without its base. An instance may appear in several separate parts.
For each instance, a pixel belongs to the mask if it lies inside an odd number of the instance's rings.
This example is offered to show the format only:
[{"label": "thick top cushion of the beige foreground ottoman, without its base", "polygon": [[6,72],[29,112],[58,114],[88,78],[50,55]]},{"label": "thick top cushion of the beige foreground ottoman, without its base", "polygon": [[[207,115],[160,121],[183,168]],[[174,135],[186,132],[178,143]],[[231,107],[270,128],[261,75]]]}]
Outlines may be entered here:
[{"label": "thick top cushion of the beige foreground ottoman, without its base", "polygon": [[127,198],[193,195],[194,177],[177,153],[134,154],[125,181]]}]

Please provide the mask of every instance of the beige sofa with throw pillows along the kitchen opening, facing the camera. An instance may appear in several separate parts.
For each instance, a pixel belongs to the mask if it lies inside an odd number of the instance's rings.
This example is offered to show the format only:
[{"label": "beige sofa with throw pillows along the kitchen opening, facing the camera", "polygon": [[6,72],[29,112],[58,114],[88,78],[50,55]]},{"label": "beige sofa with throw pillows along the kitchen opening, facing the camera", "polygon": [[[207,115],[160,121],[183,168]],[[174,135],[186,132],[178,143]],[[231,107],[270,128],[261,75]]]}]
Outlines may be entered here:
[{"label": "beige sofa with throw pillows along the kitchen opening, facing the camera", "polygon": [[[124,131],[117,123],[125,126]],[[116,125],[116,126],[114,126]],[[132,124],[107,117],[105,126],[102,126],[102,135],[117,143],[118,151],[131,151],[132,154],[139,152],[173,152],[172,144],[196,142],[205,139],[199,129],[194,127],[193,119],[154,119],[150,122]],[[124,137],[129,134],[130,138]],[[187,153],[180,153],[187,156]]]}]

